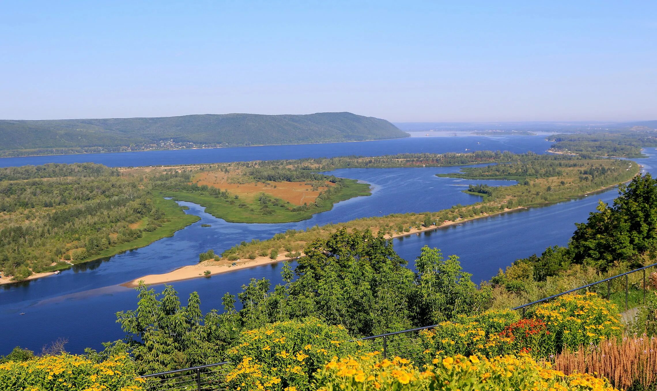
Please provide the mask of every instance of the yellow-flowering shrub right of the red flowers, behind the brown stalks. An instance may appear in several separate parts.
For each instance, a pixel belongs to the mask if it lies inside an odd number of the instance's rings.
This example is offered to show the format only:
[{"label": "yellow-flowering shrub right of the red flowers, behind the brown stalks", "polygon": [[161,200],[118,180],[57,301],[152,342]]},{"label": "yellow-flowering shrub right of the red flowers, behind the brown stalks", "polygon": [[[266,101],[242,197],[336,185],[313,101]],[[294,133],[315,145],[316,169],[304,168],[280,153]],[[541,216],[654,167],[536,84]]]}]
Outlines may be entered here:
[{"label": "yellow-flowering shrub right of the red flowers, behind the brown stalks", "polygon": [[550,335],[544,348],[549,352],[558,353],[562,348],[576,350],[579,345],[598,344],[622,333],[616,304],[595,293],[564,295],[541,304],[530,316],[545,322]]}]

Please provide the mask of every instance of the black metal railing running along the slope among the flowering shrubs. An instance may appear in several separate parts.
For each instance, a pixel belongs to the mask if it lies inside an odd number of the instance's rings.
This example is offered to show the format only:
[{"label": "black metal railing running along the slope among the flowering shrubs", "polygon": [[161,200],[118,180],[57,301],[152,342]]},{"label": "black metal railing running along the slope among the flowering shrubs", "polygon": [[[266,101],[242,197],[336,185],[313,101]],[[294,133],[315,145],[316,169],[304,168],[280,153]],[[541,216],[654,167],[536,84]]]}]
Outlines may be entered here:
[{"label": "black metal railing running along the slope among the flowering shrubs", "polygon": [[[512,310],[522,310],[522,315],[526,314],[526,309],[535,304],[540,304],[552,300],[563,295],[568,295],[568,293],[574,293],[581,291],[582,289],[587,289],[589,291],[592,287],[596,287],[599,284],[607,283],[606,285],[606,298],[610,298],[612,295],[611,292],[611,283],[612,280],[617,278],[625,278],[624,289],[625,289],[625,310],[628,309],[628,297],[629,297],[629,275],[637,272],[643,271],[643,302],[646,301],[646,270],[648,268],[657,266],[657,263],[649,264],[648,266],[643,266],[643,268],[638,268],[635,270],[630,270],[623,274],[618,274],[618,276],[613,276],[610,278],[601,279],[594,283],[583,285],[575,289],[570,289],[570,291],[565,291],[562,293],[557,293],[550,297],[541,298],[541,300],[536,300],[522,306],[511,308]],[[420,340],[420,331],[426,329],[433,329],[438,327],[438,325],[430,325],[424,327],[417,327],[415,329],[395,331],[393,333],[386,333],[380,335],[372,335],[370,337],[363,337],[356,340],[361,341],[370,341],[369,347],[372,350],[376,350],[382,353],[384,358],[399,356],[403,358],[408,358],[416,363],[422,363],[424,358],[424,352],[422,350],[422,344]],[[353,340],[351,342],[354,342]],[[224,361],[221,363],[215,363],[210,365],[202,365],[200,367],[192,367],[186,369],[179,369],[177,371],[168,371],[162,373],[154,373],[152,375],[141,376],[142,379],[147,379],[145,383],[145,388],[149,391],[158,391],[158,390],[190,390],[190,391],[202,391],[202,390],[218,390],[225,387],[225,376],[229,372],[229,369],[223,368],[223,365],[230,363],[230,361]],[[187,374],[183,374],[187,373]],[[170,376],[171,375],[171,376]]]}]

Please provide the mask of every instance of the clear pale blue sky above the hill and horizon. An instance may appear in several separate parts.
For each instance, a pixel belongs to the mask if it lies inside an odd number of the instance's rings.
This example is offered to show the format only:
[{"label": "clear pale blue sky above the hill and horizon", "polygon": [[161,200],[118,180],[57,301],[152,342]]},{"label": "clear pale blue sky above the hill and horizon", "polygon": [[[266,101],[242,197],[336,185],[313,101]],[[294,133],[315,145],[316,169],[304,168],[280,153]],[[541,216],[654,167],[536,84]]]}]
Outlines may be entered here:
[{"label": "clear pale blue sky above the hill and horizon", "polygon": [[657,119],[657,1],[5,1],[0,119]]}]

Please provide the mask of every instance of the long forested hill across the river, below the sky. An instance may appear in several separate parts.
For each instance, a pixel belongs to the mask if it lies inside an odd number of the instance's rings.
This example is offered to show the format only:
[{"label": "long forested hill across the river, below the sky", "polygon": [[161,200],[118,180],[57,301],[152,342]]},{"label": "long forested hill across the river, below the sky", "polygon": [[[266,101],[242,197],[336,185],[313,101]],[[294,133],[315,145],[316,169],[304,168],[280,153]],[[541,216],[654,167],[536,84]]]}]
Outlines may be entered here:
[{"label": "long forested hill across the river, below the sky", "polygon": [[[408,136],[392,123],[352,113],[204,114],[179,117],[0,120],[1,151],[97,148],[108,152],[202,146],[248,146],[378,140]],[[100,148],[99,148],[100,147]],[[55,153],[66,153],[57,150]],[[7,154],[5,155],[12,155]]]}]

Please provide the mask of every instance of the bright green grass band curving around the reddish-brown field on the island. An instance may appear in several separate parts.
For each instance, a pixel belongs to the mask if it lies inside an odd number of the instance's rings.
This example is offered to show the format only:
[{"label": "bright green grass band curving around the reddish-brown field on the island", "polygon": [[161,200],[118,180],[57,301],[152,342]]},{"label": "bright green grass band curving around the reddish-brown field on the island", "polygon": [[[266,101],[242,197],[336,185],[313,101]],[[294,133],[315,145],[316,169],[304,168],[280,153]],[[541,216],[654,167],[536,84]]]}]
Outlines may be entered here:
[{"label": "bright green grass band curving around the reddish-brown field on the island", "polygon": [[[344,186],[340,192],[334,194],[330,199],[326,199],[319,207],[311,207],[307,211],[290,211],[288,208],[294,207],[290,203],[279,200],[279,205],[267,205],[263,209],[258,197],[254,199],[242,198],[223,198],[219,196],[210,196],[207,194],[197,194],[188,192],[162,192],[162,196],[172,197],[177,201],[193,202],[206,208],[210,215],[223,218],[227,222],[296,222],[311,218],[315,213],[325,212],[333,208],[333,205],[339,201],[344,201],[358,196],[370,196],[369,184],[358,183],[355,179],[345,180]],[[240,207],[240,203],[245,206]],[[313,204],[314,205],[314,204]],[[266,213],[265,210],[271,213]]]}]

